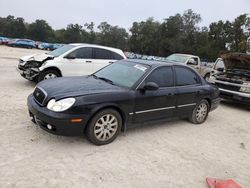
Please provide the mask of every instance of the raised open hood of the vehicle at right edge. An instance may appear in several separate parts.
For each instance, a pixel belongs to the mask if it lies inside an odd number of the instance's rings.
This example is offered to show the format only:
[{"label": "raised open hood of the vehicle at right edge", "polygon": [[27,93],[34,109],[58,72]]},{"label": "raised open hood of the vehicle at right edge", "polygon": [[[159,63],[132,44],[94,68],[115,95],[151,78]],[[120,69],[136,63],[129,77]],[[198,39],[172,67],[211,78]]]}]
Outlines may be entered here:
[{"label": "raised open hood of the vehicle at right edge", "polygon": [[230,53],[221,56],[226,70],[240,69],[250,71],[250,55],[243,53]]}]

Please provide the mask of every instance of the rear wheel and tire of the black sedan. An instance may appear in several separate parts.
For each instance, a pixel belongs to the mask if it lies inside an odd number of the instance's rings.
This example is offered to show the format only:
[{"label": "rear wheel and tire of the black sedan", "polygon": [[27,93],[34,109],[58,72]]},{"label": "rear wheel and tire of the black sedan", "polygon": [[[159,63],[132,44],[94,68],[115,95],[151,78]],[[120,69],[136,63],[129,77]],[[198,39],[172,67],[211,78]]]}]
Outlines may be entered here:
[{"label": "rear wheel and tire of the black sedan", "polygon": [[194,108],[189,120],[194,124],[204,123],[207,119],[209,112],[209,103],[207,100],[201,100]]}]

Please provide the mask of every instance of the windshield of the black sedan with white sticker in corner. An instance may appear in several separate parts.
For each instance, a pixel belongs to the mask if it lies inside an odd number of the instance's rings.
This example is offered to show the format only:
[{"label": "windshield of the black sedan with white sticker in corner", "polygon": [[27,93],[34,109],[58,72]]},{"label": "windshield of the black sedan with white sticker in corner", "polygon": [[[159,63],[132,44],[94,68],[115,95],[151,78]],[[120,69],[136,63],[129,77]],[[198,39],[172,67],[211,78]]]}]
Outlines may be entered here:
[{"label": "windshield of the black sedan with white sticker in corner", "polygon": [[149,66],[132,62],[116,62],[93,74],[109,80],[114,85],[132,87],[148,70]]}]

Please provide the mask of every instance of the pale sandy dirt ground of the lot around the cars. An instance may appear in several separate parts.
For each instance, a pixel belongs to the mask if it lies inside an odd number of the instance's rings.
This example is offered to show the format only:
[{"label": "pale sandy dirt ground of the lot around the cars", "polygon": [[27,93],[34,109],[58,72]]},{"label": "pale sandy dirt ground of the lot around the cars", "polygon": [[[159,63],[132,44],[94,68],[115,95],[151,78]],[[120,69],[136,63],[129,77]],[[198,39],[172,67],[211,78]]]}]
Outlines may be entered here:
[{"label": "pale sandy dirt ground of the lot around the cars", "polygon": [[222,103],[203,125],[185,120],[128,130],[97,147],[48,134],[27,113],[35,84],[15,70],[40,52],[0,46],[0,187],[206,188],[206,177],[250,187],[250,113]]}]

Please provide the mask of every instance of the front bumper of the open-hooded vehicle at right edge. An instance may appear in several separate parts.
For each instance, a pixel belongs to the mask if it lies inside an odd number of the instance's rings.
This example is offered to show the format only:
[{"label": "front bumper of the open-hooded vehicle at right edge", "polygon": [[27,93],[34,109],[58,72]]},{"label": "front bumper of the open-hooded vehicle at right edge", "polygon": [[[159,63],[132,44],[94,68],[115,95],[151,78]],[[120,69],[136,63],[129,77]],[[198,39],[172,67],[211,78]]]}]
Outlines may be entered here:
[{"label": "front bumper of the open-hooded vehicle at right edge", "polygon": [[250,104],[250,94],[238,92],[238,91],[231,91],[227,89],[219,88],[220,90],[220,97],[224,99],[229,99],[233,101],[238,101],[245,104]]}]

